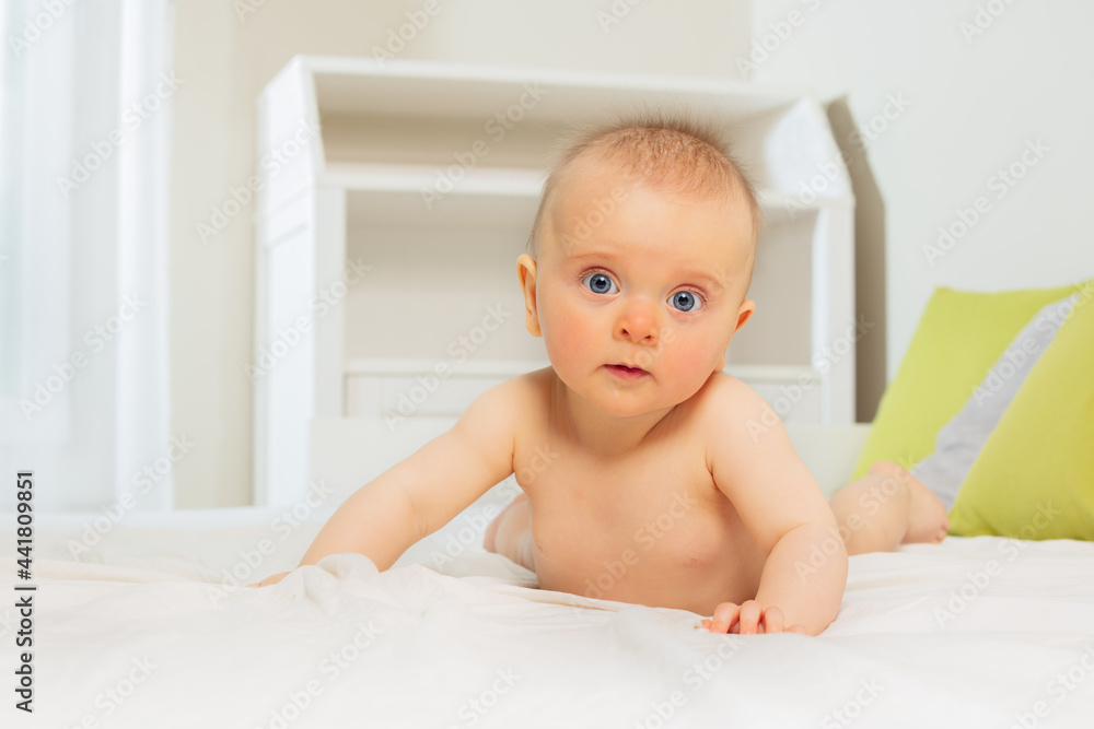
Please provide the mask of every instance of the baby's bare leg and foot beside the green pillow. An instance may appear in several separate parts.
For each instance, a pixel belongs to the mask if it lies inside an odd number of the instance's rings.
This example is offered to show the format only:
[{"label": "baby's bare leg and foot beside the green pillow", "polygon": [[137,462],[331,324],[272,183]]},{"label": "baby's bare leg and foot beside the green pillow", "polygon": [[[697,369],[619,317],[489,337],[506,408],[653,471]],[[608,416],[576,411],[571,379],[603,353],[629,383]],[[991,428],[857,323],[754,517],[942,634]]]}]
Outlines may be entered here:
[{"label": "baby's bare leg and foot beside the green pillow", "polygon": [[897,544],[941,542],[950,529],[939,497],[893,461],[843,486],[828,502],[848,554],[891,552]]}]

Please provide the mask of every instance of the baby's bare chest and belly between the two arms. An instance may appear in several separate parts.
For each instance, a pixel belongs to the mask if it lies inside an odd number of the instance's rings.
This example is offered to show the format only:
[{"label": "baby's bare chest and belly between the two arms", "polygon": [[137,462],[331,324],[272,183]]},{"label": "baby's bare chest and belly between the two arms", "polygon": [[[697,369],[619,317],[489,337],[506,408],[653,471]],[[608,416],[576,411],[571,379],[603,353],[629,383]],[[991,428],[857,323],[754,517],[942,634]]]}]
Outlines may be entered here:
[{"label": "baby's bare chest and belly between the two arms", "polygon": [[764,555],[707,468],[703,390],[605,457],[558,424],[549,378],[531,381],[513,467],[540,588],[700,614],[756,595]]}]

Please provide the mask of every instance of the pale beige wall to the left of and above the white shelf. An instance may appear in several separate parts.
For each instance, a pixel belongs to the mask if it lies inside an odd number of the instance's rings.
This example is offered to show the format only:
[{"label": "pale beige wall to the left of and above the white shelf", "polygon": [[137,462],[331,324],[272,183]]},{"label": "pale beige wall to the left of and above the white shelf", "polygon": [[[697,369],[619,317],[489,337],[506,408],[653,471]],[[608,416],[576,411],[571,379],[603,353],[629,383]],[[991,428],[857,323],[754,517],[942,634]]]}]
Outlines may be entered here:
[{"label": "pale beige wall to the left of and above the white shelf", "polygon": [[[438,1],[440,12],[398,57],[740,78],[734,59],[750,27],[748,0]],[[255,12],[237,14],[248,5],[257,5]],[[251,503],[252,393],[244,365],[253,356],[254,211],[247,208],[206,240],[197,225],[209,224],[211,208],[254,173],[255,98],[292,56],[372,55],[407,23],[406,13],[424,5],[176,3],[175,67],[184,83],[174,97],[172,432],[196,444],[175,467],[179,508]]]}]

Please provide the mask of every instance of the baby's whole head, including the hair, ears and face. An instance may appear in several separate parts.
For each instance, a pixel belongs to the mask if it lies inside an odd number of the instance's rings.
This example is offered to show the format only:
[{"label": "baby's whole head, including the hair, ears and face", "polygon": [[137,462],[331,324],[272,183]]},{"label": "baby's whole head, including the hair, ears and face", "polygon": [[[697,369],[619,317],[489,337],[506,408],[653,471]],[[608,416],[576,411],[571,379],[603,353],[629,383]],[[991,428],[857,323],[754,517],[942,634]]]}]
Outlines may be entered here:
[{"label": "baby's whole head, including the hair, ears and face", "polygon": [[528,331],[605,411],[683,402],[724,367],[755,309],[759,223],[711,126],[657,117],[591,130],[550,171],[532,255],[517,261]]}]

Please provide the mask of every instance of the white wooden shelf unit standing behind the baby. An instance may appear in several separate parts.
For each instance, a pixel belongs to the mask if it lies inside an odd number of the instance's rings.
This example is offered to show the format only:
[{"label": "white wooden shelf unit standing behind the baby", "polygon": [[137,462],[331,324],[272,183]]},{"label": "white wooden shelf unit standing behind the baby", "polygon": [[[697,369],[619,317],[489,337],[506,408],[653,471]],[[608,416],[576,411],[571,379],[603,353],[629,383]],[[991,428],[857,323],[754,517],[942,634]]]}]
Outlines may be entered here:
[{"label": "white wooden shelf unit standing behind the baby", "polygon": [[853,423],[853,198],[807,93],[300,56],[258,99],[256,504],[293,503],[322,472],[315,419],[327,435],[371,423],[383,461],[439,430],[407,423],[451,422],[546,365],[515,261],[551,149],[574,125],[661,108],[717,116],[760,193],[758,307],[726,372],[787,421]]}]

